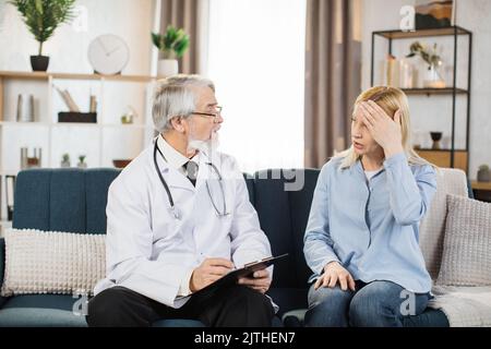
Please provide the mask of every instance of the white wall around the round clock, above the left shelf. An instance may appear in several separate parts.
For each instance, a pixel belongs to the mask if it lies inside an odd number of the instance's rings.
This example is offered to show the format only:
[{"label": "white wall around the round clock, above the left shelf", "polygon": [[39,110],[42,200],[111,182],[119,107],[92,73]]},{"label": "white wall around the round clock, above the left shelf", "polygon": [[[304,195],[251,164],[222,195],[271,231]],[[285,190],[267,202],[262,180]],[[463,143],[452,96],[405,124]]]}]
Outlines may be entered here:
[{"label": "white wall around the round clock, above the left shelf", "polygon": [[[61,25],[45,44],[53,72],[92,73],[87,47],[101,34],[121,36],[130,47],[130,61],[123,74],[149,74],[153,27],[153,0],[77,0],[88,11],[87,31],[76,32]],[[29,56],[37,55],[38,44],[22,22],[17,10],[0,0],[0,70],[29,71]],[[9,49],[4,49],[9,48]]]}]

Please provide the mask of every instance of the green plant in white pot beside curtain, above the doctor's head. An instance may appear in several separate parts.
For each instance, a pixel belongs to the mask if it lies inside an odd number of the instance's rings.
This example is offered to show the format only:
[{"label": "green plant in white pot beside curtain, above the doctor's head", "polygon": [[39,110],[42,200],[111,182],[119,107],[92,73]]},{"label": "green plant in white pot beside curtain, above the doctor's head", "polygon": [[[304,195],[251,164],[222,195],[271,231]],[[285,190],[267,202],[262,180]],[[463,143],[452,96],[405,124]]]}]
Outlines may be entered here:
[{"label": "green plant in white pot beside curtain, above the doctor's head", "polygon": [[152,41],[163,52],[158,61],[157,75],[170,76],[179,72],[178,58],[181,58],[189,48],[189,35],[182,28],[168,25],[165,34],[152,33]]}]

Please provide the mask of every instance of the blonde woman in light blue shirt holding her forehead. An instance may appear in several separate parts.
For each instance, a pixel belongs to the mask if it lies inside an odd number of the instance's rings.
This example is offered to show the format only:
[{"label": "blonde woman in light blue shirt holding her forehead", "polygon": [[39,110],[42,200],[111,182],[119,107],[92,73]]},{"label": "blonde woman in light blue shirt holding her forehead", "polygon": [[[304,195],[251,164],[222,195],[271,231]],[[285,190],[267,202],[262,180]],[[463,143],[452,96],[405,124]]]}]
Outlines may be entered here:
[{"label": "blonde woman in light blue shirt holding her forehead", "polygon": [[307,326],[403,326],[431,298],[419,222],[436,191],[410,143],[406,95],[372,87],[356,100],[351,147],[321,170],[304,236],[313,270]]}]

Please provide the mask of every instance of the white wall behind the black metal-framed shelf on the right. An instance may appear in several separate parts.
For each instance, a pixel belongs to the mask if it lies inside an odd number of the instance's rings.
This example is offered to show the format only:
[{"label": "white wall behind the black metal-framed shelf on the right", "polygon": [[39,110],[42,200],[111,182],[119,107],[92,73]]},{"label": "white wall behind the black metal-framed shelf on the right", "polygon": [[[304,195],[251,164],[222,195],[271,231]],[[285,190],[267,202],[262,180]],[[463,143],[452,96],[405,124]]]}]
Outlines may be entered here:
[{"label": "white wall behind the black metal-framed shelf on the right", "polygon": [[[414,4],[412,0],[363,0],[363,37],[362,37],[362,87],[370,86],[370,59],[371,59],[371,33],[374,31],[396,29],[399,27],[399,9],[405,4]],[[489,0],[458,0],[456,24],[471,31],[472,38],[472,73],[471,73],[471,104],[470,104],[470,161],[469,177],[476,178],[477,169],[481,164],[491,165],[491,152],[489,134],[491,133],[491,119],[489,110],[491,110],[491,65],[488,57],[491,56],[491,45],[489,37],[491,35],[491,1]],[[434,39],[421,39],[432,44]],[[382,49],[380,43],[376,47]],[[452,61],[452,41],[445,39],[442,43],[442,57],[447,64]],[[405,47],[394,46],[394,52],[404,55],[408,52],[408,44],[402,43]],[[465,53],[467,43],[459,40],[459,50]],[[386,50],[384,51],[386,52]],[[397,53],[396,53],[397,55]],[[400,56],[398,56],[399,58]],[[459,55],[457,58],[457,70],[463,75],[457,75],[457,85],[465,84],[467,56]],[[448,76],[452,67],[445,69],[445,80]],[[375,81],[376,83],[376,81]],[[414,129],[416,130],[416,139],[423,146],[429,146],[431,140],[429,131],[443,131],[444,134],[450,133],[451,123],[451,97],[428,97],[418,96],[410,97],[411,118],[414,120]],[[465,97],[457,99],[456,120],[456,144],[465,145]],[[444,137],[444,144],[448,144],[448,136]]]}]

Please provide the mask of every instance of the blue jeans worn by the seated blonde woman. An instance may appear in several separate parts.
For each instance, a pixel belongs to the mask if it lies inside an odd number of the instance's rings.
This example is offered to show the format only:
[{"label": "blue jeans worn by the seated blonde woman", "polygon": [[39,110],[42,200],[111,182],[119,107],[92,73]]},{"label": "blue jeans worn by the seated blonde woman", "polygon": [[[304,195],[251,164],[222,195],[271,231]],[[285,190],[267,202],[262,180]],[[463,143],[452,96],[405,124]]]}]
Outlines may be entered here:
[{"label": "blue jeans worn by the seated blonde woman", "polygon": [[355,291],[309,290],[309,327],[403,327],[404,317],[421,314],[430,293],[412,293],[391,281],[356,281]]}]

